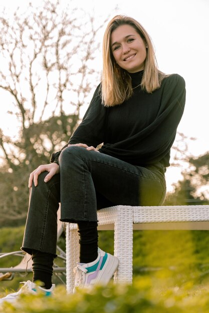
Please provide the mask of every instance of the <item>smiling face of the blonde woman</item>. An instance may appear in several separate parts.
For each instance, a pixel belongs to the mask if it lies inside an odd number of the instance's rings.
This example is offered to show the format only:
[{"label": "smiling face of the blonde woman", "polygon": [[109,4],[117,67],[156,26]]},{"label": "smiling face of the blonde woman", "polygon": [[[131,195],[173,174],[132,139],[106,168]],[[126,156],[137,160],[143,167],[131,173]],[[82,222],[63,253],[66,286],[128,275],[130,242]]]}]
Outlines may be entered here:
[{"label": "smiling face of the blonde woman", "polygon": [[118,26],[111,34],[111,49],[116,63],[130,73],[144,69],[145,42],[132,26]]}]

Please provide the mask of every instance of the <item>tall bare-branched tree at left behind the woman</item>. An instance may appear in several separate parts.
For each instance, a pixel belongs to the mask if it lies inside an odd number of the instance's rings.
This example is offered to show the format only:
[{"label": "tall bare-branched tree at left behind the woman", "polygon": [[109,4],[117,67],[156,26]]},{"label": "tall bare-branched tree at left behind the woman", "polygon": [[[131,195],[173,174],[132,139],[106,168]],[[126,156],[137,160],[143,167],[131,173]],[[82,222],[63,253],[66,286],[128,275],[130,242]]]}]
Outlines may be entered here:
[{"label": "tall bare-branched tree at left behind the woman", "polygon": [[[71,3],[62,8],[59,0],[46,0],[41,7],[30,3],[25,12],[18,9],[12,17],[6,12],[0,16],[0,96],[9,94],[8,114],[16,115],[19,122],[15,140],[0,129],[1,177],[10,177],[6,182],[10,192],[17,194],[18,185],[27,190],[26,171],[49,162],[51,153],[66,143],[78,125],[80,108],[98,84],[93,60],[101,25]],[[15,182],[17,178],[21,182]],[[0,195],[5,214],[26,215],[18,197],[8,201]]]}]

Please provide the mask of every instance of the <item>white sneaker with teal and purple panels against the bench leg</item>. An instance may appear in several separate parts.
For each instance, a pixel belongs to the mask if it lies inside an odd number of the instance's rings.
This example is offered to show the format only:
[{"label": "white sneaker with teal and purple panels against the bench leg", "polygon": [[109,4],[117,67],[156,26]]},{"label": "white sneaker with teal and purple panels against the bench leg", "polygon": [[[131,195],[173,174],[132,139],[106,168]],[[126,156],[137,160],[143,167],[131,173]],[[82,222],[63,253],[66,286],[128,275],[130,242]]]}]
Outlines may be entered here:
[{"label": "white sneaker with teal and purple panels against the bench leg", "polygon": [[91,263],[78,263],[74,268],[76,273],[76,287],[89,287],[92,285],[106,285],[118,267],[118,258],[98,248],[98,257]]}]

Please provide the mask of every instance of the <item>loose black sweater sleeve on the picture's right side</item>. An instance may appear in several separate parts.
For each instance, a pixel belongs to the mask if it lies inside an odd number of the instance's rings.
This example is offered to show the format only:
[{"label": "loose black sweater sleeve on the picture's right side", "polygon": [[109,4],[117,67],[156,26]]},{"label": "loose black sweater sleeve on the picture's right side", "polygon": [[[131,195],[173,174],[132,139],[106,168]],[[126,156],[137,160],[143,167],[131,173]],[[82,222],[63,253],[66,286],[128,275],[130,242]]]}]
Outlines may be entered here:
[{"label": "loose black sweater sleeve on the picture's right side", "polygon": [[160,108],[154,121],[144,129],[114,144],[105,144],[100,151],[132,164],[152,164],[170,150],[185,104],[185,82],[178,74],[162,81]]}]

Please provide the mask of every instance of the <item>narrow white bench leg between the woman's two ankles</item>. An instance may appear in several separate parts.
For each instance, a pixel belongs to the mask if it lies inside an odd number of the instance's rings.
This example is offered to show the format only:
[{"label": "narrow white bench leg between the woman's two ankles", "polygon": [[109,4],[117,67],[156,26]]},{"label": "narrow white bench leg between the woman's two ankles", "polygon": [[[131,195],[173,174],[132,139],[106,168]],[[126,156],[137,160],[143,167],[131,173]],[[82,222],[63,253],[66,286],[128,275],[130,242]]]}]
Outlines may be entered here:
[{"label": "narrow white bench leg between the woman's two ankles", "polygon": [[77,229],[70,229],[70,223],[66,226],[66,288],[68,293],[73,292],[75,275],[73,268],[79,261],[79,237]]}]

